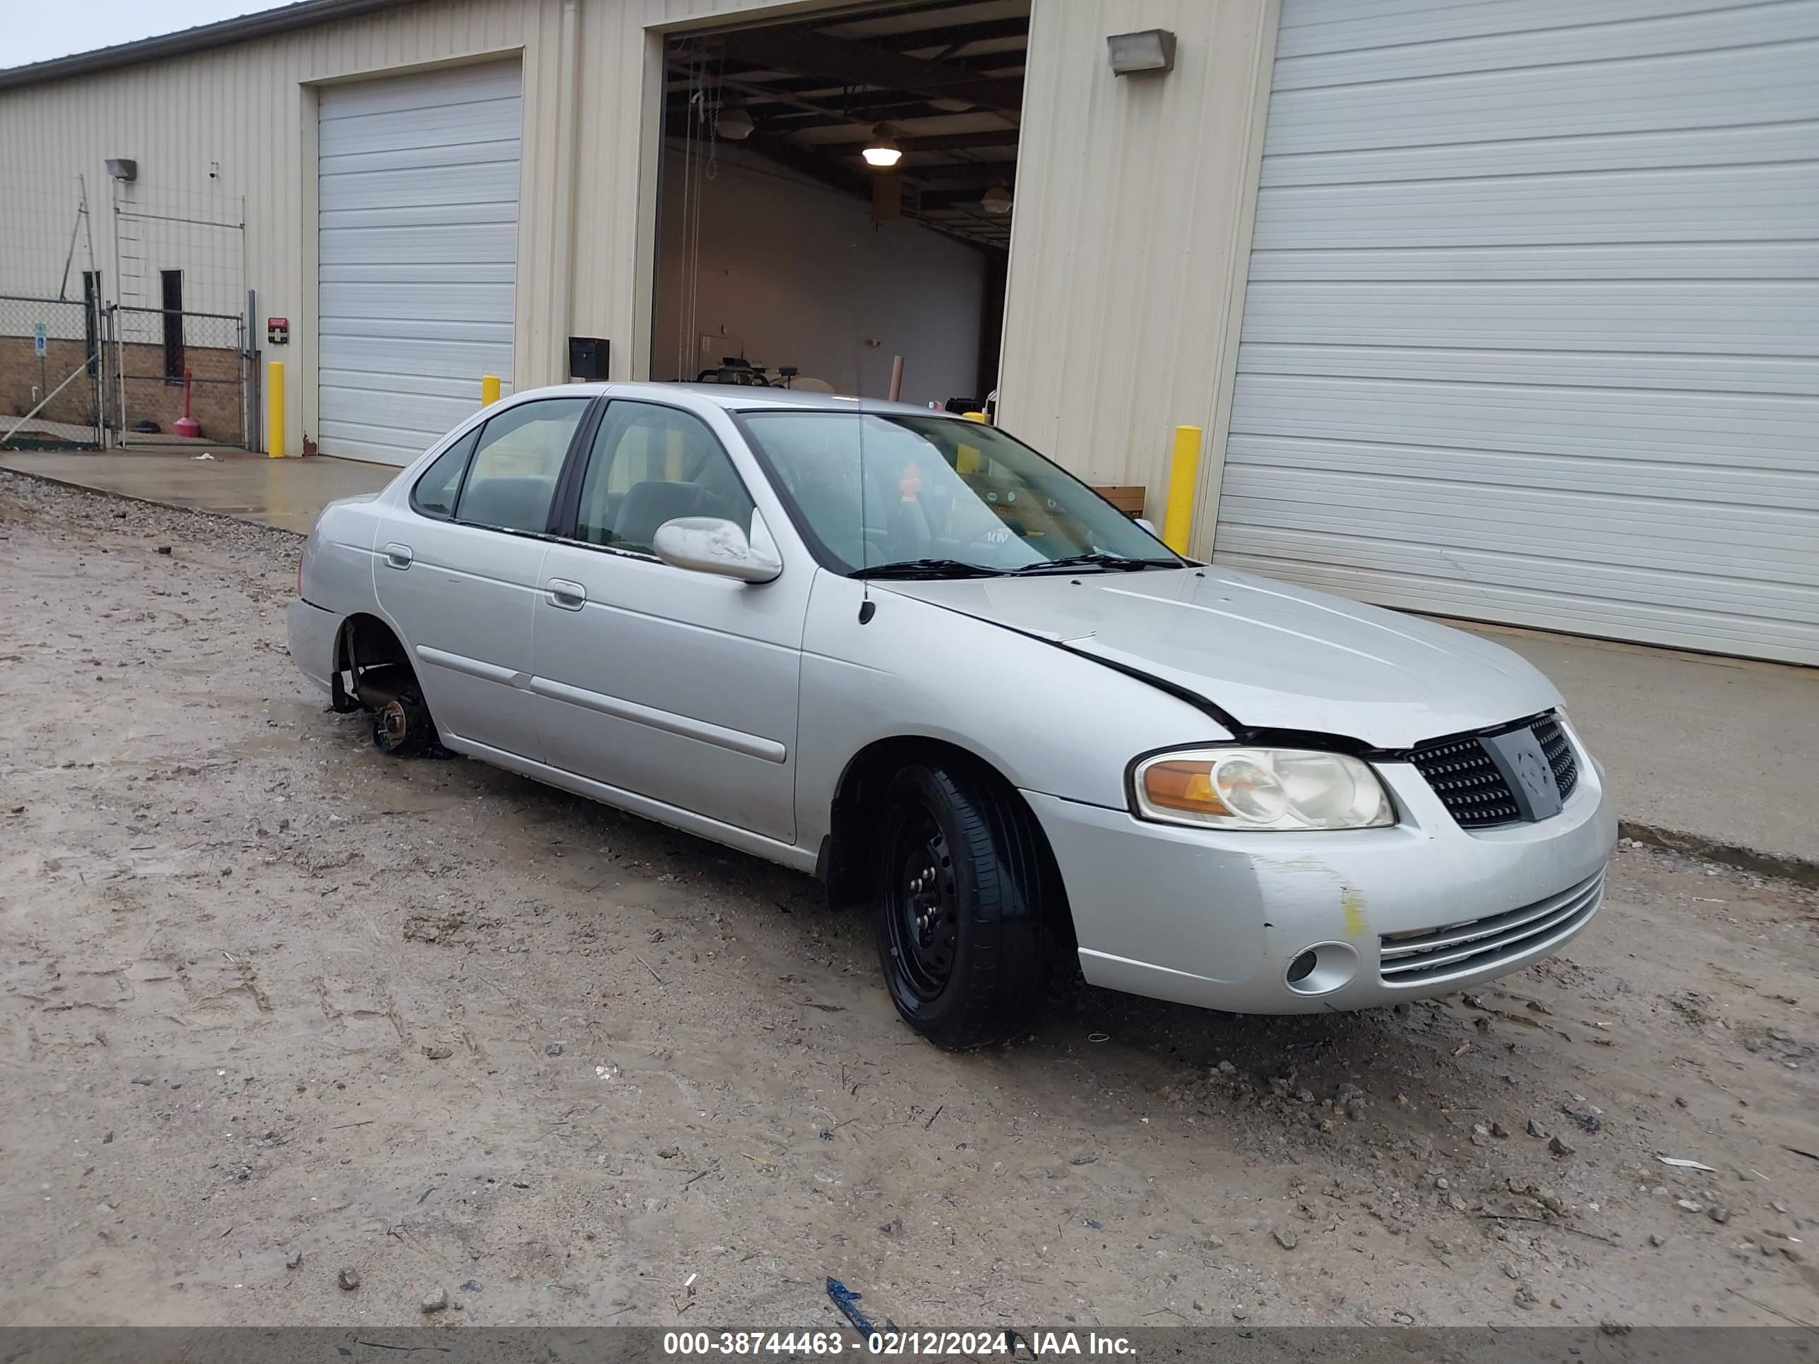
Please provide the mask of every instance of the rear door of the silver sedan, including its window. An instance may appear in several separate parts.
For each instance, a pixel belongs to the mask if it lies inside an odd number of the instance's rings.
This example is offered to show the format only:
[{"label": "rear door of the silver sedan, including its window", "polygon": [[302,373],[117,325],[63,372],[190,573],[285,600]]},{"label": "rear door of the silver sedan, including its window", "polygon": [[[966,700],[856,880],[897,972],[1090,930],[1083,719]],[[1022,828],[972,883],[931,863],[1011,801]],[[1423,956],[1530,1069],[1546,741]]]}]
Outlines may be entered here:
[{"label": "rear door of the silver sedan, including its window", "polygon": [[502,409],[449,446],[380,526],[378,604],[455,742],[542,758],[531,626],[557,476],[589,402]]}]

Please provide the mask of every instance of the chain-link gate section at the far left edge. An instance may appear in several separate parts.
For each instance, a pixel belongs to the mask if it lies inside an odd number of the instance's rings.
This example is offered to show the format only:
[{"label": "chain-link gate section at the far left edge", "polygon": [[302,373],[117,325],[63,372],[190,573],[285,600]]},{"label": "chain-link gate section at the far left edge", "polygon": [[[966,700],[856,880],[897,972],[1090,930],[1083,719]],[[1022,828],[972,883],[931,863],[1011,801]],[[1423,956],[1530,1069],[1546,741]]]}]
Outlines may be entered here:
[{"label": "chain-link gate section at the far left edge", "polygon": [[106,344],[89,298],[0,295],[0,447],[98,447]]}]

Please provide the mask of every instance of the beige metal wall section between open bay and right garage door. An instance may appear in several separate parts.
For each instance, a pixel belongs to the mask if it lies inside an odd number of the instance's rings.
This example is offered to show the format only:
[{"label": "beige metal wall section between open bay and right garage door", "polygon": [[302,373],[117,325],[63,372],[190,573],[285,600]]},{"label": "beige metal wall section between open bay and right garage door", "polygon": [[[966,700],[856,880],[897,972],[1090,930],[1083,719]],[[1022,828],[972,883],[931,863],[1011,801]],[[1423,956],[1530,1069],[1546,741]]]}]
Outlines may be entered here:
[{"label": "beige metal wall section between open bay and right garage door", "polygon": [[[1177,35],[1166,80],[1106,35]],[[1035,0],[999,420],[1097,484],[1166,484],[1177,424],[1215,426],[1262,113],[1266,0]]]}]

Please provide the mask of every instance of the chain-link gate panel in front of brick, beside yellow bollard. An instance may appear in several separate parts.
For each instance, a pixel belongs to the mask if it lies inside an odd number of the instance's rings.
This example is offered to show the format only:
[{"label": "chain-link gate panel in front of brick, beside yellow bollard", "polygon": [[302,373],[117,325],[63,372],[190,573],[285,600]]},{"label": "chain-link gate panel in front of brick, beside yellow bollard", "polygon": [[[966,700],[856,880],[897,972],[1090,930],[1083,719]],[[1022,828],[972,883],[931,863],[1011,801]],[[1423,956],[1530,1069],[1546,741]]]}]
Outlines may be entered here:
[{"label": "chain-link gate panel in front of brick, beside yellow bollard", "polygon": [[115,304],[107,322],[122,446],[247,444],[253,415],[244,316]]}]

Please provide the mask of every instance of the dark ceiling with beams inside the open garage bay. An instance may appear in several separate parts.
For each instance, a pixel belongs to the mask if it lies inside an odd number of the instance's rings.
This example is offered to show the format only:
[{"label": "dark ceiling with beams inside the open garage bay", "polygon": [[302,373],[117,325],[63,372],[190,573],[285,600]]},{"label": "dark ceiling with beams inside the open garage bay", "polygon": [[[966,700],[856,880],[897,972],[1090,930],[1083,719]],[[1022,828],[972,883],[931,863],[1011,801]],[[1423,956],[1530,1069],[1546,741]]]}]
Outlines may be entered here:
[{"label": "dark ceiling with beams inside the open garage bay", "polygon": [[[991,186],[1017,187],[1030,0],[871,5],[669,44],[666,127],[680,136],[689,102],[744,109],[739,145],[855,198],[879,173],[860,158],[886,124],[902,147],[902,216],[1004,251],[1011,215],[990,215]],[[711,122],[711,120],[709,120]]]}]

